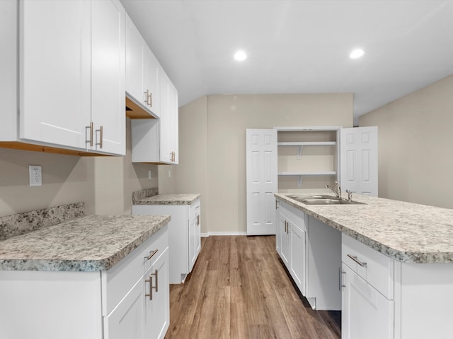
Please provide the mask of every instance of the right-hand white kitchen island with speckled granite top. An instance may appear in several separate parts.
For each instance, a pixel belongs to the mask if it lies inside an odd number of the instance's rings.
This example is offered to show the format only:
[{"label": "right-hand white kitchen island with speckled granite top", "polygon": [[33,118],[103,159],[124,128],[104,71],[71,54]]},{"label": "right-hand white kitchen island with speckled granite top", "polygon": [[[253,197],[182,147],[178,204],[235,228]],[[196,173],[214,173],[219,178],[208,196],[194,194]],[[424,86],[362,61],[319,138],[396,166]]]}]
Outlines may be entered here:
[{"label": "right-hand white kitchen island with speckled granite top", "polygon": [[[288,237],[287,245],[280,242],[280,256],[300,253],[292,239],[304,232],[304,266],[293,258],[289,272],[299,273],[293,279],[303,273],[309,287],[309,275],[339,263],[327,274],[338,278],[328,292],[335,295],[336,285],[341,295],[342,338],[453,338],[453,210],[359,195],[354,200],[363,204],[349,206],[275,198],[286,218],[277,225],[280,237]],[[323,242],[320,229],[328,233]],[[322,255],[316,254],[322,244]]]}]

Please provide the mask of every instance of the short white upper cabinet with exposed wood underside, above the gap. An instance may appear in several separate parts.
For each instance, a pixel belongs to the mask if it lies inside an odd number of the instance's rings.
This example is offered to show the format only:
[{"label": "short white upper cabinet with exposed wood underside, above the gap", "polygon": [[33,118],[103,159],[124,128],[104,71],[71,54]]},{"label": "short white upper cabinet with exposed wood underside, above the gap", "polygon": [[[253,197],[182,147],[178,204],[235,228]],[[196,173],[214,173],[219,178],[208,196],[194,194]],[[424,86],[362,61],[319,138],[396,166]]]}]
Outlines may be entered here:
[{"label": "short white upper cabinet with exposed wood underside, above the gap", "polygon": [[126,92],[132,105],[138,105],[130,108],[140,118],[159,117],[159,68],[159,61],[126,16]]}]

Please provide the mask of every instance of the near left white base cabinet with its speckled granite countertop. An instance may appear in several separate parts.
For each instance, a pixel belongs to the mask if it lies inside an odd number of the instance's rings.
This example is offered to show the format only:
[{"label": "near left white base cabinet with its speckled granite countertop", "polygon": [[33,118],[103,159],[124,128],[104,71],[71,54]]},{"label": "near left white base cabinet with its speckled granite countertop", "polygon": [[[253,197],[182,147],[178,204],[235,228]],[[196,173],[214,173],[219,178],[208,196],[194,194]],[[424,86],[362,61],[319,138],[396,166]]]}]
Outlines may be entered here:
[{"label": "near left white base cabinet with its speckled granite countertop", "polygon": [[0,338],[164,338],[170,220],[86,215],[0,241]]}]

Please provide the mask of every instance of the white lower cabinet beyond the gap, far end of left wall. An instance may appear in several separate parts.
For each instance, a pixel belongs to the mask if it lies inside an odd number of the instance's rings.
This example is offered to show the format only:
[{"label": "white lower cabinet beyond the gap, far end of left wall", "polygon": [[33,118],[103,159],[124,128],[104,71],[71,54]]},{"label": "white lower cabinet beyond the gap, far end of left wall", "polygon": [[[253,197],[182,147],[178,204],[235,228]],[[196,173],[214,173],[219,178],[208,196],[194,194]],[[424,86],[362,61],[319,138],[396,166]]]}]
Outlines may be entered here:
[{"label": "white lower cabinet beyond the gap, far end of left wall", "polygon": [[200,198],[190,205],[133,205],[134,215],[171,215],[168,222],[171,284],[183,283],[201,249]]}]

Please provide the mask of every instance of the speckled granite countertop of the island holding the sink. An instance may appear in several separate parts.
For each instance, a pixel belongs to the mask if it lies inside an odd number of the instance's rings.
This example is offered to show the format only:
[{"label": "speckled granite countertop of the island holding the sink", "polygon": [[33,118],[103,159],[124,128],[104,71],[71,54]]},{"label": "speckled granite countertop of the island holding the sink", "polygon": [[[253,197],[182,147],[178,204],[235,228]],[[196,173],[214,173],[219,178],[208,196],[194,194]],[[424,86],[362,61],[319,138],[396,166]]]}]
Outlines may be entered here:
[{"label": "speckled granite countertop of the island holding the sink", "polygon": [[365,205],[305,205],[275,194],[304,213],[386,256],[407,263],[453,263],[453,210],[354,194]]}]

